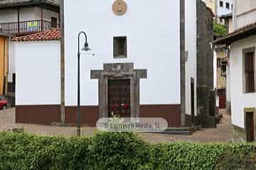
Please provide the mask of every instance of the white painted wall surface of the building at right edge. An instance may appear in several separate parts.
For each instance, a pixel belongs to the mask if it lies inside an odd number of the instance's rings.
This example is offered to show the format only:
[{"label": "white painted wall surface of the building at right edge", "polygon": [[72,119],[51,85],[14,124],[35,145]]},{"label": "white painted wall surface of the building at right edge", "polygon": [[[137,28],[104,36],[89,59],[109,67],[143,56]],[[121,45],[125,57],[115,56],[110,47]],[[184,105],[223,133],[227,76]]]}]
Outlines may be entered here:
[{"label": "white painted wall surface of the building at right edge", "polygon": [[[234,29],[241,28],[255,20],[256,1],[251,0],[235,0],[234,8]],[[243,53],[250,47],[256,46],[256,35],[238,40],[230,45],[230,97],[232,124],[240,128],[245,128],[245,108],[256,107],[256,94],[245,94],[243,91]],[[255,116],[255,115],[254,115]]]}]

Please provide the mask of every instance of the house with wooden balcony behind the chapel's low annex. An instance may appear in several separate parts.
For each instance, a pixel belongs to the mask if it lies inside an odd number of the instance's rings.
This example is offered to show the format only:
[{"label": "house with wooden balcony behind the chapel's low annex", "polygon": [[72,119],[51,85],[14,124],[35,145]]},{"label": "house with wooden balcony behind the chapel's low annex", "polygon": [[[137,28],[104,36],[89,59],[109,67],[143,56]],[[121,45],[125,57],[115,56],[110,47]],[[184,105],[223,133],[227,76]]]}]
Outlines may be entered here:
[{"label": "house with wooden balcony behind the chapel's low annex", "polygon": [[[11,38],[29,35],[53,28],[59,28],[60,6],[58,0],[16,0],[0,1],[0,34]],[[10,41],[8,46],[8,70],[4,95],[14,105],[15,93],[15,49]],[[1,69],[1,68],[0,68]],[[1,69],[2,70],[2,69]]]}]

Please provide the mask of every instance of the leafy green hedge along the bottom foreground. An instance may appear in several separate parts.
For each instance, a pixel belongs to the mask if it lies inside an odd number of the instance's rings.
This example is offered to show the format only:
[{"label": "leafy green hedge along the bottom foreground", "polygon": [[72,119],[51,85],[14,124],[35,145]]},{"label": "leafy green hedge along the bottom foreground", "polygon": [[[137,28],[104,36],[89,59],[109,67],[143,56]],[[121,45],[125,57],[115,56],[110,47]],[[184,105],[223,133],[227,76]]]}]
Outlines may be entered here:
[{"label": "leafy green hedge along the bottom foreground", "polygon": [[253,169],[255,150],[247,143],[149,145],[127,132],[80,138],[2,132],[0,169]]}]

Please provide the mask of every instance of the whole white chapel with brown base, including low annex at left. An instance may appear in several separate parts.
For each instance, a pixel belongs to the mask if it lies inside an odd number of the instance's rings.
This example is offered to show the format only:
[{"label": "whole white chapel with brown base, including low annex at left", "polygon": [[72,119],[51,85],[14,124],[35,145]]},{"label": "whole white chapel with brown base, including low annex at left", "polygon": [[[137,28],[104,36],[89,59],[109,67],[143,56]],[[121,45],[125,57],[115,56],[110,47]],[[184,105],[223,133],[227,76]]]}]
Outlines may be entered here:
[{"label": "whole white chapel with brown base, including low annex at left", "polygon": [[[92,49],[80,51],[82,125],[95,125],[112,112],[121,117],[164,118],[169,127],[193,121],[198,114],[196,5],[196,0],[65,0],[65,123],[77,120],[77,56],[85,42],[81,35],[78,47],[80,31],[86,33]],[[31,41],[41,52],[17,57],[18,122],[51,124],[61,120],[60,50],[50,52],[60,47],[54,33],[16,39],[16,50],[23,54],[22,44]],[[41,55],[48,60],[36,60]],[[35,72],[37,75],[31,72],[38,81],[19,86],[29,72],[28,67],[21,67],[22,62],[29,61],[45,69]],[[46,84],[54,84],[54,88]],[[40,95],[35,91],[41,91]]]}]

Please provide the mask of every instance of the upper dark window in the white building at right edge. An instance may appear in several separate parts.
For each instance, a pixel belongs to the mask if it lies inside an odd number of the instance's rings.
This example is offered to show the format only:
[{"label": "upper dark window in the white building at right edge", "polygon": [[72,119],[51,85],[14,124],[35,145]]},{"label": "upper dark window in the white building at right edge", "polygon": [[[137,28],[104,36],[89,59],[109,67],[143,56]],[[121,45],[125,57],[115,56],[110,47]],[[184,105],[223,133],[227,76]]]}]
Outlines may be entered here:
[{"label": "upper dark window in the white building at right edge", "polygon": [[245,93],[255,92],[255,50],[244,52],[244,75]]}]

